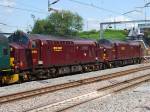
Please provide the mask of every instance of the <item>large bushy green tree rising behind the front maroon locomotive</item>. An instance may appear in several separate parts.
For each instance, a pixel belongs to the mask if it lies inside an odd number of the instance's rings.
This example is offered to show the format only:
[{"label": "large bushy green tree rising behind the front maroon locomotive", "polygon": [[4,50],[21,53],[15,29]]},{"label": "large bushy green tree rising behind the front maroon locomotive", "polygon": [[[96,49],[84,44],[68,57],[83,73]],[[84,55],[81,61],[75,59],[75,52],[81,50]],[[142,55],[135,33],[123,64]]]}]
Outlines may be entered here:
[{"label": "large bushy green tree rising behind the front maroon locomotive", "polygon": [[77,35],[82,31],[83,19],[70,11],[54,12],[46,19],[37,20],[32,33],[52,35]]}]

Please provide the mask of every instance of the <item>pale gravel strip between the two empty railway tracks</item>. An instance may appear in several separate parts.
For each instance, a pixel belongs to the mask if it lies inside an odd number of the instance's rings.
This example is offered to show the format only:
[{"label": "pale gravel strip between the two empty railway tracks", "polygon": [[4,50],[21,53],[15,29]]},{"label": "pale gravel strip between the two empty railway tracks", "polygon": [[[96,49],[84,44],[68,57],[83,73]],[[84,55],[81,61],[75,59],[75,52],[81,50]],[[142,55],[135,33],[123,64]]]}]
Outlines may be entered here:
[{"label": "pale gravel strip between the two empty railway tracks", "polygon": [[[108,71],[110,71],[110,70],[108,70]],[[143,74],[143,73],[148,73],[148,72],[150,73],[150,70],[145,70],[143,72],[139,72],[138,74]],[[134,74],[133,77],[134,76],[136,76],[136,75]],[[120,80],[123,80],[123,79],[124,78],[122,78]],[[66,100],[66,99],[69,99],[72,97],[76,97],[79,95],[83,95],[83,94],[87,94],[89,92],[95,91],[95,90],[99,89],[100,87],[106,86],[108,84],[112,84],[112,82],[115,82],[115,81],[116,81],[115,79],[111,80],[111,81],[101,81],[101,82],[84,85],[84,86],[80,86],[80,87],[76,87],[76,88],[66,89],[63,91],[60,90],[57,92],[48,93],[45,95],[34,97],[32,99],[25,99],[23,101],[2,104],[2,105],[0,105],[0,112],[22,112],[22,111],[26,111],[31,108],[41,107],[41,106],[44,106],[47,104],[60,102],[60,101],[63,101],[63,100]],[[33,85],[31,85],[31,86],[33,86]],[[93,106],[91,106],[91,107],[93,107]],[[86,109],[85,110],[83,109],[83,111],[87,112]],[[72,112],[72,111],[70,111],[70,112]],[[76,109],[75,109],[75,112],[76,112]],[[82,112],[82,110],[81,111],[79,110],[79,112]],[[89,111],[89,112],[91,112],[91,111]],[[95,112],[96,112],[96,110],[95,110]],[[105,112],[107,112],[107,111],[105,111]]]}]

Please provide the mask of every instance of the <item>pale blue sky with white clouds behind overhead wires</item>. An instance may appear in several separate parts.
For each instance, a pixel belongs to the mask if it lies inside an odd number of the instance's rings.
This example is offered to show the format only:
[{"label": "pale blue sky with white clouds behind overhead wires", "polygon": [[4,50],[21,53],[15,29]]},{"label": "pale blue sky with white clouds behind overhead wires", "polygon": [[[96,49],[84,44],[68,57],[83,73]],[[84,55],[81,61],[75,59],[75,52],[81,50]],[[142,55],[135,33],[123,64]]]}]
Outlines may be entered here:
[{"label": "pale blue sky with white clouds behind overhead wires", "polygon": [[[104,21],[145,19],[145,9],[136,7],[142,7],[146,2],[150,0],[60,0],[51,7],[78,13],[84,19],[84,30],[91,30],[99,29],[99,23]],[[137,11],[123,15],[132,10]],[[147,8],[147,19],[149,12]],[[31,15],[43,19],[49,14],[48,0],[0,0],[0,31],[30,30],[34,24]]]}]

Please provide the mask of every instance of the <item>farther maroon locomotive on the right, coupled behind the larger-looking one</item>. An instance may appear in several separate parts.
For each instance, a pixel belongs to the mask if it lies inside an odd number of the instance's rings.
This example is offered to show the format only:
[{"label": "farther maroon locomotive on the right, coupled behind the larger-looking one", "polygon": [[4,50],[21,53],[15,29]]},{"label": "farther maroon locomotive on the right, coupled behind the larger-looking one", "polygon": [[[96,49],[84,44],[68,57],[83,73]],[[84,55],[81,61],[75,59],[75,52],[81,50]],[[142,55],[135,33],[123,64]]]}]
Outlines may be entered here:
[{"label": "farther maroon locomotive on the right, coupled behind the larger-looking one", "polygon": [[141,63],[143,50],[141,45],[135,41],[110,41],[100,40],[98,42],[104,46],[103,62],[107,67],[118,67],[129,64]]}]

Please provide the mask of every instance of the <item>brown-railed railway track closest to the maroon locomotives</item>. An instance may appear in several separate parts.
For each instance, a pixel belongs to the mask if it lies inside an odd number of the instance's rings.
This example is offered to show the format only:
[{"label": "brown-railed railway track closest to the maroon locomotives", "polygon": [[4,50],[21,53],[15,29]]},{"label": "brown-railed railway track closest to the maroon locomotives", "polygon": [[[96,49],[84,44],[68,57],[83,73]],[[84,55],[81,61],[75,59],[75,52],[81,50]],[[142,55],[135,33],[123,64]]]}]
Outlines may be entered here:
[{"label": "brown-railed railway track closest to the maroon locomotives", "polygon": [[24,91],[24,92],[20,92],[20,93],[14,93],[14,94],[6,95],[6,96],[1,96],[0,104],[11,102],[11,101],[23,100],[25,98],[34,97],[37,95],[46,94],[46,93],[54,92],[57,90],[67,89],[67,88],[71,88],[71,87],[77,87],[77,86],[90,84],[90,83],[94,83],[94,82],[98,82],[98,81],[102,81],[102,80],[108,80],[108,79],[113,79],[116,77],[126,76],[131,73],[135,73],[135,72],[143,71],[143,70],[147,70],[147,69],[150,69],[150,66],[134,68],[134,69],[130,69],[128,71],[121,71],[121,72],[107,74],[107,75],[103,75],[103,76],[97,76],[97,77],[93,77],[93,78],[82,79],[79,81],[72,81],[69,83],[58,84],[55,86],[46,86],[43,88],[38,88],[38,89],[33,89],[33,90]]}]

